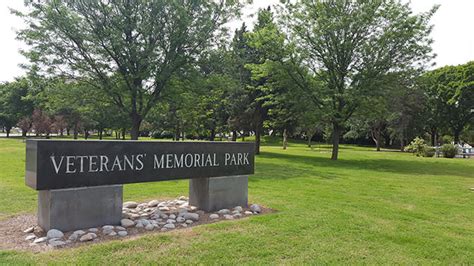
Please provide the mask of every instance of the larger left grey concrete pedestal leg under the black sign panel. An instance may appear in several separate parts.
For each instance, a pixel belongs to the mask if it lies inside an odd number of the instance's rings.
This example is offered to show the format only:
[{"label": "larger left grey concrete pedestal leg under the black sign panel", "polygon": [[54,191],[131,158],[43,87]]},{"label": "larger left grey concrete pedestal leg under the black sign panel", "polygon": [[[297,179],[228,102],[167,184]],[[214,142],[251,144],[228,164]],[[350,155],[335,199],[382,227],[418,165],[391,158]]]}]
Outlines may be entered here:
[{"label": "larger left grey concrete pedestal leg under the black sign panel", "polygon": [[122,185],[38,191],[38,225],[72,231],[117,225],[122,218]]}]

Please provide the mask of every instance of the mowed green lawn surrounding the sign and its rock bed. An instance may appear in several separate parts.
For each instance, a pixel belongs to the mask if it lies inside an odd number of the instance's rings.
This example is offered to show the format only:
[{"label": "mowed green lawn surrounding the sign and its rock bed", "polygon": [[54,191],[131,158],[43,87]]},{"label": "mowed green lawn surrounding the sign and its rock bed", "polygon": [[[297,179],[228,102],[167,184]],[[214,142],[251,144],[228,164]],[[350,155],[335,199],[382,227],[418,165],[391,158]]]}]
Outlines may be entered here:
[{"label": "mowed green lawn surrounding the sign and its rock bed", "polygon": [[[24,143],[0,139],[0,219],[32,213]],[[0,251],[4,263],[469,264],[474,262],[474,160],[418,158],[343,146],[266,145],[250,202],[277,212],[77,249]],[[125,186],[125,200],[187,195],[188,181]]]}]

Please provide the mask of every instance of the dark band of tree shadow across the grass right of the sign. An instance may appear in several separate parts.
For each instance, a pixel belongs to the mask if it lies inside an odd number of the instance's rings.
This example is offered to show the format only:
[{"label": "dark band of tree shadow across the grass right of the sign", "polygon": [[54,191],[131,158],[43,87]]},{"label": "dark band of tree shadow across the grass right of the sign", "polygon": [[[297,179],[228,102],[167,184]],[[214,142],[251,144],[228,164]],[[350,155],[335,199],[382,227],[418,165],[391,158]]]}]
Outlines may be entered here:
[{"label": "dark band of tree shadow across the grass right of the sign", "polygon": [[[278,161],[259,162],[257,170],[261,166],[263,169],[272,169],[275,172],[274,178],[286,178],[280,173],[288,173],[289,177],[306,176],[312,173],[317,173],[323,178],[333,179],[339,174],[337,169],[346,170],[369,170],[376,172],[390,172],[408,175],[431,175],[431,176],[456,176],[474,178],[474,172],[467,166],[453,165],[449,163],[442,163],[440,161],[420,161],[420,160],[395,160],[395,159],[338,159],[332,161],[329,158],[281,154],[273,152],[261,152],[259,155],[265,159],[277,159]],[[284,163],[282,163],[282,160]],[[294,167],[291,165],[294,164]],[[321,173],[315,171],[314,168],[334,168],[334,173],[328,172],[327,169]],[[267,174],[266,174],[267,175]],[[327,175],[327,177],[326,177]]]}]

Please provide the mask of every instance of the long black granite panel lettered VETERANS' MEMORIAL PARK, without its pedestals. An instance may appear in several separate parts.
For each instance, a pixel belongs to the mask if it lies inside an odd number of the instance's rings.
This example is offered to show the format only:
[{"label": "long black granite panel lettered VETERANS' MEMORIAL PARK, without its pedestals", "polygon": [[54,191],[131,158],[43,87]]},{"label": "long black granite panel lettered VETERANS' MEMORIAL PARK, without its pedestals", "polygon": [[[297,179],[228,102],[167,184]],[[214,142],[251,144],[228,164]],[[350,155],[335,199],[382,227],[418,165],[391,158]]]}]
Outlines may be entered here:
[{"label": "long black granite panel lettered VETERANS' MEMORIAL PARK, without its pedestals", "polygon": [[254,173],[242,142],[27,140],[26,184],[36,190]]}]

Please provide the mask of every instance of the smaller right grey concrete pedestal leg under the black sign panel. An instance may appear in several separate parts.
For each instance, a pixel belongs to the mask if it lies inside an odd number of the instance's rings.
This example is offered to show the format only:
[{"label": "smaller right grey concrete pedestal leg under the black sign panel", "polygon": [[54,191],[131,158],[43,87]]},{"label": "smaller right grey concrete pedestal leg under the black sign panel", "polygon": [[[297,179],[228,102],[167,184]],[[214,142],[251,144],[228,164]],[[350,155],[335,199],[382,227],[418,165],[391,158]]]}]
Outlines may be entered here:
[{"label": "smaller right grey concrete pedestal leg under the black sign panel", "polygon": [[222,176],[189,180],[189,204],[208,212],[247,207],[248,176]]}]

